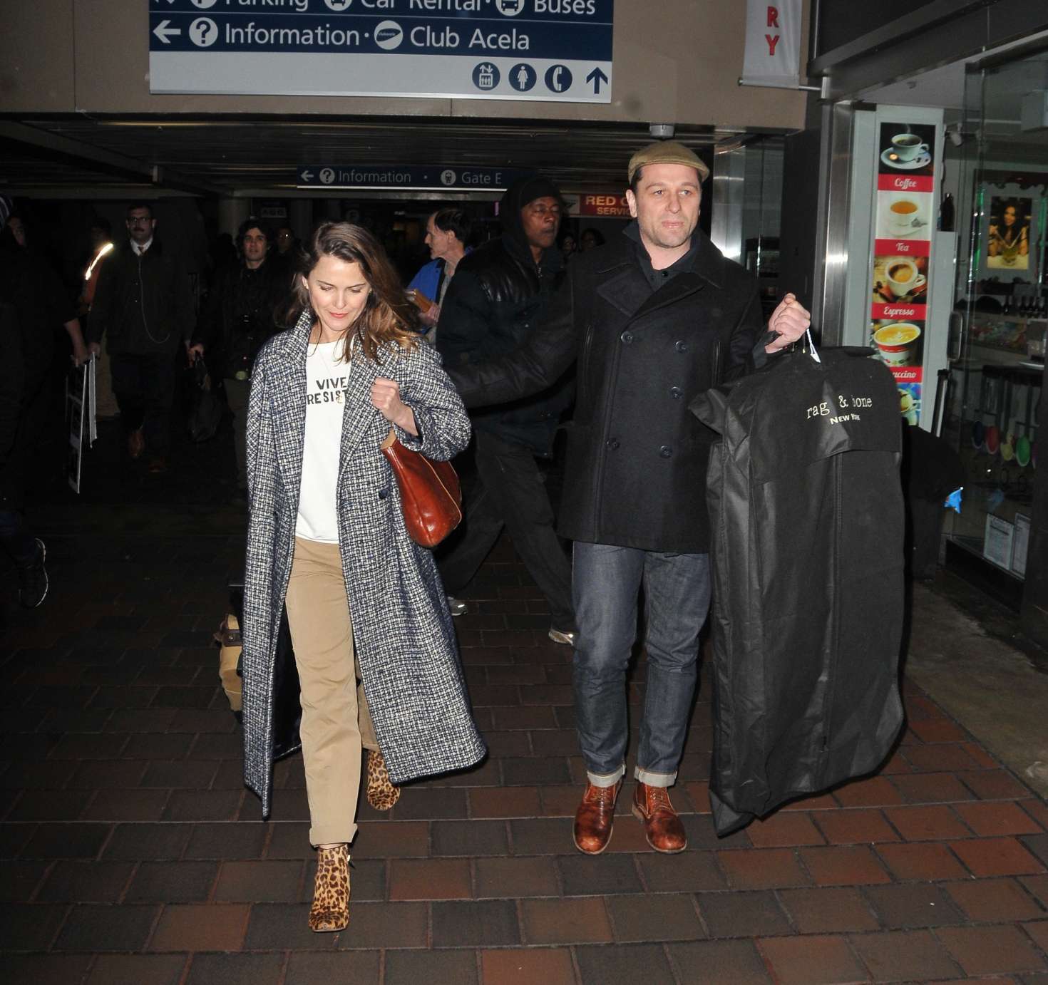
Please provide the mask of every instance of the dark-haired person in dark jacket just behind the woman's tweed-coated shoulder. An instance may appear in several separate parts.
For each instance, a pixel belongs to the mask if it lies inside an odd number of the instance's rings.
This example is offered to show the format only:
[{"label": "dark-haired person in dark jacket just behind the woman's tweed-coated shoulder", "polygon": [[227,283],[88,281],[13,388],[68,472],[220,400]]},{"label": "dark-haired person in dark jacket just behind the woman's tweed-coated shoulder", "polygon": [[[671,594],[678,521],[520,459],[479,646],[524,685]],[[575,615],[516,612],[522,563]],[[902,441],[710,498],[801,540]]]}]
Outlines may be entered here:
[{"label": "dark-haired person in dark jacket just behind the woman's tweed-coated shoulder", "polygon": [[245,219],[237,232],[240,256],[215,276],[200,313],[190,359],[205,355],[212,381],[223,380],[233,412],[237,488],[247,490],[247,394],[252,368],[263,343],[277,331],[276,311],[291,292],[284,264],[269,260],[272,238],[258,219]]}]

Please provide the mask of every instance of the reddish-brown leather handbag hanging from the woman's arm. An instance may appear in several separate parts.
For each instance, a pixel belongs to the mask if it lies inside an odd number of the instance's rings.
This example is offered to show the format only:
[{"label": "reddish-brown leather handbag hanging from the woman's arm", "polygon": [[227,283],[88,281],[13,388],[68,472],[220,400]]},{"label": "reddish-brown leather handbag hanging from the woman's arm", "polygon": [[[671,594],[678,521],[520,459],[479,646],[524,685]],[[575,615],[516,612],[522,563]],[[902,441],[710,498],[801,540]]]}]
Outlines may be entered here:
[{"label": "reddish-brown leather handbag hanging from the woman's arm", "polygon": [[422,547],[436,547],[462,522],[462,490],[451,462],[434,462],[406,448],[391,428],[379,445],[400,490],[408,535]]}]

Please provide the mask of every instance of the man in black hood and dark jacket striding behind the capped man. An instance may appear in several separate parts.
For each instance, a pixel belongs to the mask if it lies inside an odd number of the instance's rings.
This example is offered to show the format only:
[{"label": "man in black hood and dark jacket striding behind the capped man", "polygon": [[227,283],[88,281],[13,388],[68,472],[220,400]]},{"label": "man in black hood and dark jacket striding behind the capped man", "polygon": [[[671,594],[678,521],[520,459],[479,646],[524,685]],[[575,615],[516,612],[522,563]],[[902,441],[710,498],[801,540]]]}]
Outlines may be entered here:
[{"label": "man in black hood and dark jacket striding behind the capped man", "polygon": [[[449,370],[516,349],[540,324],[564,275],[556,248],[561,212],[561,193],[540,175],[520,178],[506,191],[499,206],[502,236],[459,261],[444,296],[436,346]],[[537,396],[472,415],[478,484],[466,501],[463,535],[439,565],[454,597],[505,526],[549,603],[549,638],[570,643],[571,567],[536,463],[536,456],[551,456],[561,414],[571,402],[572,381],[559,377]],[[453,600],[452,611],[460,614],[464,604]]]}]

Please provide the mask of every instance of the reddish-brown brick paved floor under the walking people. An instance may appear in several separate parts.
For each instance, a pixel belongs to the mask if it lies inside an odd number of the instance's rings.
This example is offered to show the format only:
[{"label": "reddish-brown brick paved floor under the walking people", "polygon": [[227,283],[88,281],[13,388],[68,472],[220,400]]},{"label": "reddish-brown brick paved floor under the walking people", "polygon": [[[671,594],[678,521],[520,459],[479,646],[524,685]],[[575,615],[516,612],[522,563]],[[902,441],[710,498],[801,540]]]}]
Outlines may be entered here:
[{"label": "reddish-brown brick paved floor under the walking people", "polygon": [[301,760],[262,823],[210,643],[240,520],[70,516],[52,597],[0,643],[4,982],[1048,982],[1048,809],[912,686],[877,775],[723,840],[703,691],[687,852],[649,850],[627,787],[610,850],[577,854],[570,652],[506,545],[457,622],[492,756],[365,805],[350,927],[312,935]]}]

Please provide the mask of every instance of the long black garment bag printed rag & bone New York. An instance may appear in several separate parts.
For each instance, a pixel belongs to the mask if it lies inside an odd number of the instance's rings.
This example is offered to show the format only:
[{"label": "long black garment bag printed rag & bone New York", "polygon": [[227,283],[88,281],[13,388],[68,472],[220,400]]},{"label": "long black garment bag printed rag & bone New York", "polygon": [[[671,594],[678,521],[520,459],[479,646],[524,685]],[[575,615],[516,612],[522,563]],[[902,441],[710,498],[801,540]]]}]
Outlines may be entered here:
[{"label": "long black garment bag printed rag & bone New York", "polygon": [[902,724],[899,396],[869,349],[776,356],[692,411],[720,434],[717,833],[875,769]]}]

